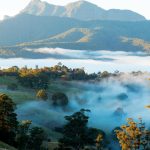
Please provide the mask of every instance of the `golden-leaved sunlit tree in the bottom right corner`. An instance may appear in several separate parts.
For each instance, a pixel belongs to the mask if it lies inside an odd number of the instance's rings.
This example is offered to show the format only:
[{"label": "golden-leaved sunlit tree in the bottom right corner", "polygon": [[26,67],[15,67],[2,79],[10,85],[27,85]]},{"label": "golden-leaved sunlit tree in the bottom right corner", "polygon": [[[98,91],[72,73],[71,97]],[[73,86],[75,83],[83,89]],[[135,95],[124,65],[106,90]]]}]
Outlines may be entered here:
[{"label": "golden-leaved sunlit tree in the bottom right corner", "polygon": [[123,125],[121,130],[116,130],[122,150],[149,150],[150,131],[146,130],[142,119],[136,123],[132,118],[127,120],[127,125]]}]

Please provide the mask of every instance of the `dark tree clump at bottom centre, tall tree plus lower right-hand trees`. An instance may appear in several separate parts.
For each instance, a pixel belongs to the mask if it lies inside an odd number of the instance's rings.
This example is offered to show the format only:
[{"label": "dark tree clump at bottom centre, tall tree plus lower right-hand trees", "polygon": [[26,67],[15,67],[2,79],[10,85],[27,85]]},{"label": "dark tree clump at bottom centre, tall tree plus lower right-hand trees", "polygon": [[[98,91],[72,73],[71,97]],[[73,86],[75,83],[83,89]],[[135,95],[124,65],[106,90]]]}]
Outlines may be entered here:
[{"label": "dark tree clump at bottom centre, tall tree plus lower right-hand trees", "polygon": [[73,148],[84,149],[86,146],[104,147],[105,133],[102,130],[88,127],[88,115],[90,110],[81,109],[70,116],[65,116],[66,124],[63,127],[63,137],[59,140],[57,150]]}]

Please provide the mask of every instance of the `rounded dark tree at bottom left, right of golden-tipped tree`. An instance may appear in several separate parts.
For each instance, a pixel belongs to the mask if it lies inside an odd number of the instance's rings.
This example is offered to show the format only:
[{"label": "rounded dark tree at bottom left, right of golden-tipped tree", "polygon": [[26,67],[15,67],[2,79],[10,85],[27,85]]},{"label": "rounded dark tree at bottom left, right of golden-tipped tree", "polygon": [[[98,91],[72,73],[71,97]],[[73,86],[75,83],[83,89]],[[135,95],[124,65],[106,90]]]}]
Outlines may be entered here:
[{"label": "rounded dark tree at bottom left, right of golden-tipped tree", "polygon": [[33,127],[30,130],[29,149],[40,150],[42,142],[46,139],[44,130],[40,127]]}]

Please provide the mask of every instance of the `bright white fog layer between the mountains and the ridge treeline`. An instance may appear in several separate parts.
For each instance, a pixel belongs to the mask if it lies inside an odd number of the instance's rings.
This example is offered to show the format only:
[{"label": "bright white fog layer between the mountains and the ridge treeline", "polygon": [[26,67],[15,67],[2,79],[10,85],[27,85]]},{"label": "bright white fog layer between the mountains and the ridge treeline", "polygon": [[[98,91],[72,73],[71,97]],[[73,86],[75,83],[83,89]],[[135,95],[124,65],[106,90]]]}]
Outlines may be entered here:
[{"label": "bright white fog layer between the mountains and the ridge treeline", "polygon": [[[29,49],[28,49],[29,51]],[[123,51],[87,51],[87,50],[66,50],[66,49],[30,49],[35,53],[44,53],[49,58],[45,59],[24,59],[10,58],[0,59],[0,66],[3,68],[19,66],[19,67],[39,67],[53,66],[58,62],[70,68],[85,68],[88,73],[98,72],[99,70],[107,70],[114,72],[116,70],[122,72],[131,71],[150,71],[150,56],[142,52],[123,52]],[[19,62],[19,63],[18,63]]]}]

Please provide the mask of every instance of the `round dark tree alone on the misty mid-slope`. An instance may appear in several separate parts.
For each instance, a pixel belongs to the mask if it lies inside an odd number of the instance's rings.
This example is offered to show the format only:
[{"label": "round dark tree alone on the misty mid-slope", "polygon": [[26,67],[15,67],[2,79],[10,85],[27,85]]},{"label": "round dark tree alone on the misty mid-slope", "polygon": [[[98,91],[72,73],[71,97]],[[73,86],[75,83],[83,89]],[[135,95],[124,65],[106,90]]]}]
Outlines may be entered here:
[{"label": "round dark tree alone on the misty mid-slope", "polygon": [[66,106],[68,104],[68,97],[66,94],[58,92],[52,95],[53,105]]}]

